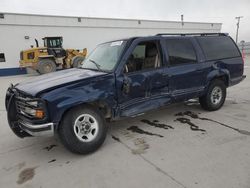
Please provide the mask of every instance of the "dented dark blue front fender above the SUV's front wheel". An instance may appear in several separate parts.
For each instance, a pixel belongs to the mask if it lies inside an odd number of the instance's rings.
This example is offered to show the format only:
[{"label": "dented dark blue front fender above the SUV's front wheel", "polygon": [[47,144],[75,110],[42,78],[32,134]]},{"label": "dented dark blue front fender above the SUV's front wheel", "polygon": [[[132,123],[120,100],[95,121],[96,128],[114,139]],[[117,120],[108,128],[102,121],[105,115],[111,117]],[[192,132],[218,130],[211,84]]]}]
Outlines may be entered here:
[{"label": "dented dark blue front fender above the SUV's front wheel", "polygon": [[107,75],[100,80],[83,81],[57,88],[42,95],[47,101],[50,120],[58,123],[63,114],[80,104],[103,101],[110,108],[116,105],[115,81],[113,75]]}]

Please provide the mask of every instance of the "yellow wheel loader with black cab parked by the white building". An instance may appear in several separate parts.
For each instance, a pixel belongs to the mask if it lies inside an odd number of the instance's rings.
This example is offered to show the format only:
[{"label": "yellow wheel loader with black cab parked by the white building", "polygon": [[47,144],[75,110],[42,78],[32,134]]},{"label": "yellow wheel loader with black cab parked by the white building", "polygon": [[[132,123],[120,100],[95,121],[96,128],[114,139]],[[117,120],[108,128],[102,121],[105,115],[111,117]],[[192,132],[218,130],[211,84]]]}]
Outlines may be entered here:
[{"label": "yellow wheel loader with black cab parked by the white building", "polygon": [[78,67],[87,55],[87,49],[64,49],[62,37],[44,37],[44,47],[23,50],[20,53],[20,67],[32,68],[40,74],[54,72],[56,69]]}]

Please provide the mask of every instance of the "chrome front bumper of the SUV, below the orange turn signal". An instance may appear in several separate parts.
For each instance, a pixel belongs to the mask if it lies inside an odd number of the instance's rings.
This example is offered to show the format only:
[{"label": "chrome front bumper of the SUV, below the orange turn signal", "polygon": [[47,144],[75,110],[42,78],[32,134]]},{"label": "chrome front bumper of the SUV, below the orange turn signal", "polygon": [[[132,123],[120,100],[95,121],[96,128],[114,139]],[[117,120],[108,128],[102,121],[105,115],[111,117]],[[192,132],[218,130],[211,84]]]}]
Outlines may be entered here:
[{"label": "chrome front bumper of the SUV, below the orange turn signal", "polygon": [[54,135],[54,124],[30,124],[28,122],[19,121],[19,127],[31,136],[53,136]]}]

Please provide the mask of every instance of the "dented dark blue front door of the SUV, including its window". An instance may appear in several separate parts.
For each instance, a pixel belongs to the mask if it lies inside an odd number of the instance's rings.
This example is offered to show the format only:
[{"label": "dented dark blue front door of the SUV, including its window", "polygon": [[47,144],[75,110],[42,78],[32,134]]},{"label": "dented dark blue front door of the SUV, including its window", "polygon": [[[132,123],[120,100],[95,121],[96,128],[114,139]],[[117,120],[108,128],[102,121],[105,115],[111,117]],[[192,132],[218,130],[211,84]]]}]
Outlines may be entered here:
[{"label": "dented dark blue front door of the SUV, including its window", "polygon": [[117,79],[121,117],[136,116],[157,108],[154,98],[165,89],[159,41],[137,43]]}]

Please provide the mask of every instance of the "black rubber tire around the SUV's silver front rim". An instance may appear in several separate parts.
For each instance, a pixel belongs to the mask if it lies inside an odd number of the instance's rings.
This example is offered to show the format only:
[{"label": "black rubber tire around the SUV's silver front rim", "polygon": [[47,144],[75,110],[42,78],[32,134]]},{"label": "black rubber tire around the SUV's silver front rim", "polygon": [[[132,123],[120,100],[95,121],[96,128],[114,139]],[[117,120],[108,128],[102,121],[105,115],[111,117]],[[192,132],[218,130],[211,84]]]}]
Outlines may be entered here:
[{"label": "black rubber tire around the SUV's silver front rim", "polygon": [[[75,133],[77,130],[75,129],[75,122],[78,122],[77,120],[79,120],[79,117],[81,118],[81,116],[86,114],[94,117],[98,123],[98,129],[95,133],[96,135],[93,140],[89,142],[86,140],[86,138],[84,138],[84,136],[80,138],[79,135]],[[107,134],[107,126],[103,116],[101,115],[101,112],[99,112],[97,109],[94,109],[91,106],[77,107],[67,112],[61,124],[59,125],[58,133],[61,142],[68,150],[73,153],[88,154],[96,151],[103,144]],[[90,134],[92,135],[92,133]]]}]

